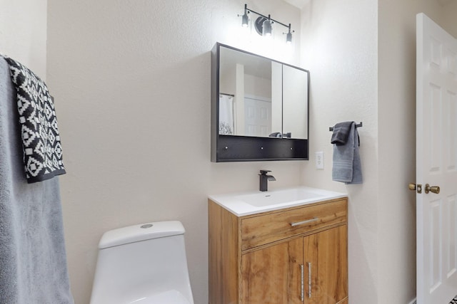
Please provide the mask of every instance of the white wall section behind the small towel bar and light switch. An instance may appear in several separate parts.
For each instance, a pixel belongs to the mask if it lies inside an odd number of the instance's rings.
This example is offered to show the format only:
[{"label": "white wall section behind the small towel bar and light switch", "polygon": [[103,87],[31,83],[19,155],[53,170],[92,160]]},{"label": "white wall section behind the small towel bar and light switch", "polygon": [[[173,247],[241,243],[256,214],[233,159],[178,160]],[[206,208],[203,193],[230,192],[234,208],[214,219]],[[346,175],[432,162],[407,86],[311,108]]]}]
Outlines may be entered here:
[{"label": "white wall section behind the small towel bar and light switch", "polygon": [[[353,304],[378,298],[378,111],[376,0],[310,0],[303,7],[302,64],[311,70],[310,162],[303,181],[347,192],[349,298]],[[363,184],[331,181],[332,145],[328,127],[363,122],[359,129]],[[324,152],[323,170],[314,152]]]}]

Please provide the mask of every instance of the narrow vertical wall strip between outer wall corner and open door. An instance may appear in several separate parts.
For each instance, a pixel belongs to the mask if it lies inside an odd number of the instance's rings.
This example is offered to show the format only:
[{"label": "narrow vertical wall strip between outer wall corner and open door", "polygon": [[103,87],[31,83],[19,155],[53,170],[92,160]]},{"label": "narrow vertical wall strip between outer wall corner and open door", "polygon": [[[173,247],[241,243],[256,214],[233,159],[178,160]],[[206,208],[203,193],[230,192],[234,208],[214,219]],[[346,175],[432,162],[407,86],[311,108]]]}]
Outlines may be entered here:
[{"label": "narrow vertical wall strip between outer wall corner and open door", "polygon": [[[379,2],[378,303],[416,295],[416,14],[418,1]],[[430,13],[428,13],[430,14]]]}]

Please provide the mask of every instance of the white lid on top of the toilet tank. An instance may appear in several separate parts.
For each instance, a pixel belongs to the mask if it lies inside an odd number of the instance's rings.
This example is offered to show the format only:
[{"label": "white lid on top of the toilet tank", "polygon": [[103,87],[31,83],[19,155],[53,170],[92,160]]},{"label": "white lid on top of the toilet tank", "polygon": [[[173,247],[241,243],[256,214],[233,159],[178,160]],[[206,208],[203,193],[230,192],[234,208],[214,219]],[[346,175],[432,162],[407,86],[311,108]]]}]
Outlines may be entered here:
[{"label": "white lid on top of the toilet tank", "polygon": [[183,224],[180,221],[156,221],[145,224],[123,227],[106,231],[101,236],[99,249],[146,241],[150,239],[164,238],[184,234]]}]

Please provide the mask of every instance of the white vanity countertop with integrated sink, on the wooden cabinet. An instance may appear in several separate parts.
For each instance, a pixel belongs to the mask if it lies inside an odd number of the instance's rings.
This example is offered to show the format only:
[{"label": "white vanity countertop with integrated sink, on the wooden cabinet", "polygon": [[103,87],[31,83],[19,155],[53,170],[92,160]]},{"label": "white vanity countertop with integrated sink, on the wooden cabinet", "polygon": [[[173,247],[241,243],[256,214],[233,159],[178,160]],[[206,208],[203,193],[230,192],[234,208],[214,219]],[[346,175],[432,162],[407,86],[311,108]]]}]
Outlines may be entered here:
[{"label": "white vanity countertop with integrated sink, on the wooden cabinet", "polygon": [[210,195],[209,199],[236,216],[246,216],[293,206],[339,199],[347,194],[311,187],[293,187],[267,192],[251,191]]}]

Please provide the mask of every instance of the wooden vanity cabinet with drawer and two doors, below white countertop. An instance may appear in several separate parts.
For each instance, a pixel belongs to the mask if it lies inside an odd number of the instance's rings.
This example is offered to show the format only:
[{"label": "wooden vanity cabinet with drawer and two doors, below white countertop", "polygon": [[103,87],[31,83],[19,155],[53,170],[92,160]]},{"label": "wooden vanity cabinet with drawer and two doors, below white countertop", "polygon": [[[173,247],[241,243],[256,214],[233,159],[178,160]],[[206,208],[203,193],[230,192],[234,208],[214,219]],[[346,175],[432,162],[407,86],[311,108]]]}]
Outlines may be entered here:
[{"label": "wooden vanity cabinet with drawer and two doors, below white countertop", "polygon": [[210,304],[347,304],[347,199],[236,216],[209,200]]}]

